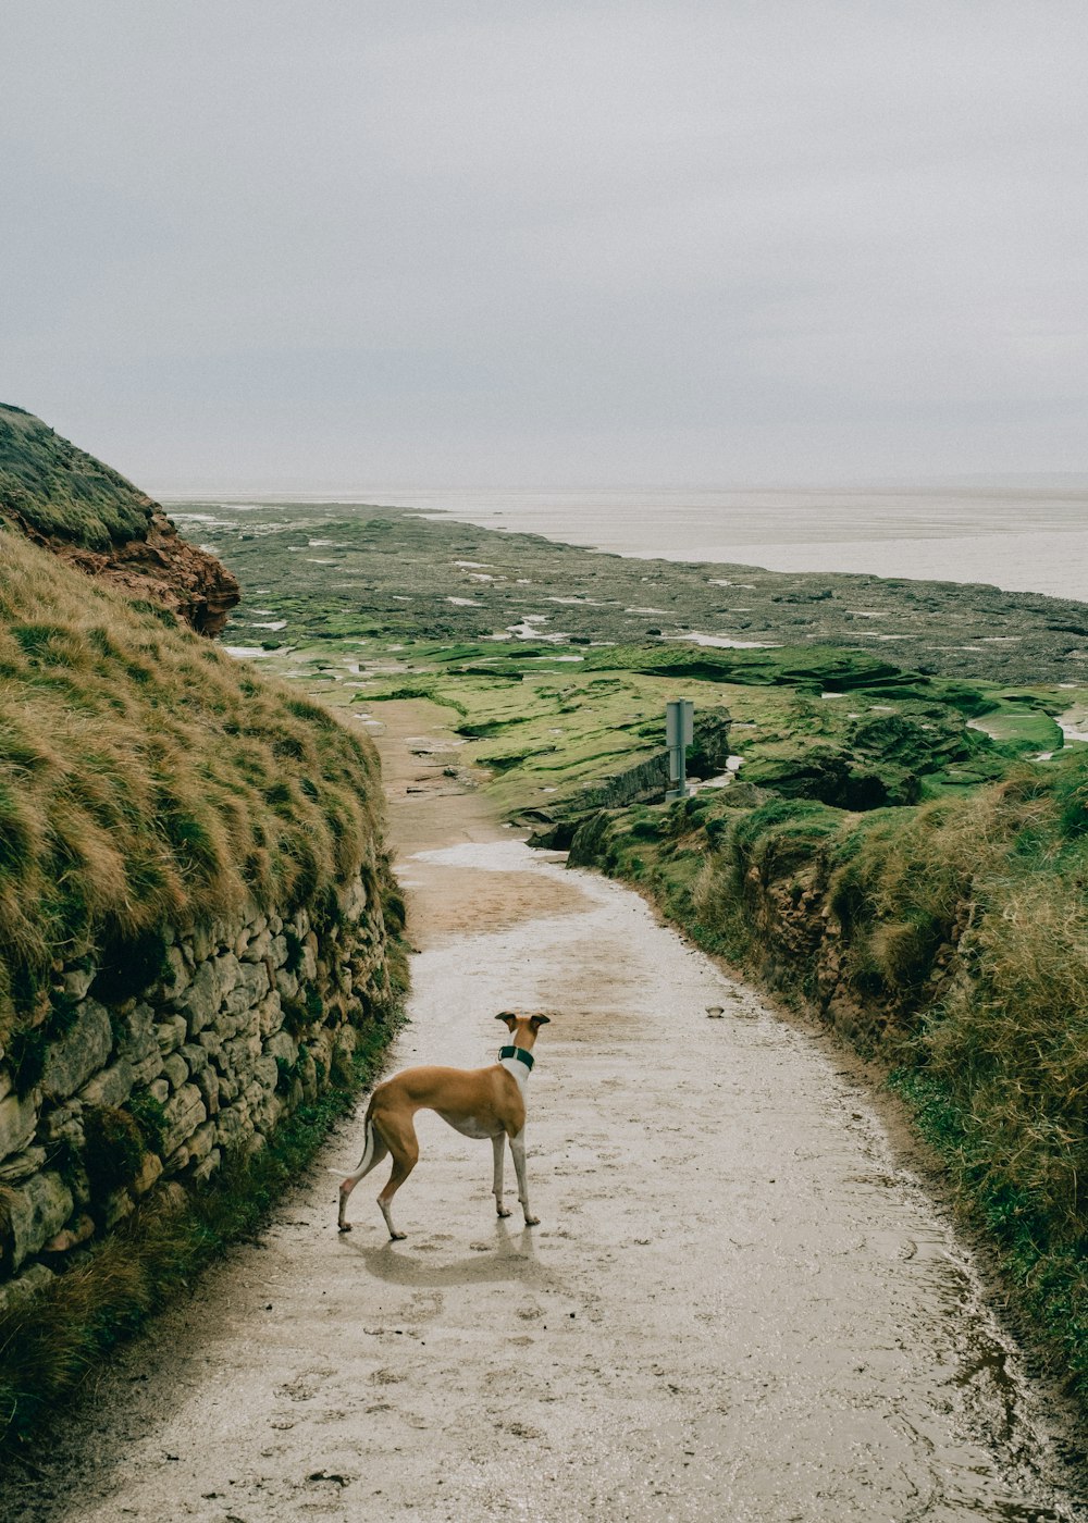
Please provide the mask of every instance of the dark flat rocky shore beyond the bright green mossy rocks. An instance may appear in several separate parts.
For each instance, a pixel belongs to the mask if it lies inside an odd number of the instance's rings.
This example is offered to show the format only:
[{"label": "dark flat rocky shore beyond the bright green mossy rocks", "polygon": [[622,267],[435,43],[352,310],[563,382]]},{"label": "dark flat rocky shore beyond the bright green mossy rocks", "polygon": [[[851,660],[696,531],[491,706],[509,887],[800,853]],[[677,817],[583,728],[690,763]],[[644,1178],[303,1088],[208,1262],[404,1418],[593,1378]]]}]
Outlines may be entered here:
[{"label": "dark flat rocky shore beyond the bright green mossy rocks", "polygon": [[602,641],[738,652],[818,644],[931,675],[1088,682],[1088,609],[1032,592],[642,560],[392,507],[186,503],[172,512],[250,589],[232,621],[245,646],[357,635],[521,640],[556,652]]}]

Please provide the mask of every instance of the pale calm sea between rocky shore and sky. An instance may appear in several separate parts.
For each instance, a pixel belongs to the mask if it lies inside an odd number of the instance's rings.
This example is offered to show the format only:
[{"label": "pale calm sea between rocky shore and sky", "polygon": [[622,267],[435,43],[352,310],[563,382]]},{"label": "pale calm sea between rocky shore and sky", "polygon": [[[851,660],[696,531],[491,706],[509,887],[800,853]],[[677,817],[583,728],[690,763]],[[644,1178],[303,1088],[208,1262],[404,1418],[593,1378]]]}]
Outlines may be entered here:
[{"label": "pale calm sea between rocky shore and sky", "polygon": [[[180,495],[171,500],[180,503]],[[258,500],[288,498],[248,498]],[[864,492],[373,486],[350,495],[300,493],[291,501],[419,507],[486,528],[523,530],[629,556],[989,582],[1088,602],[1088,486],[1080,483],[1061,489]]]}]

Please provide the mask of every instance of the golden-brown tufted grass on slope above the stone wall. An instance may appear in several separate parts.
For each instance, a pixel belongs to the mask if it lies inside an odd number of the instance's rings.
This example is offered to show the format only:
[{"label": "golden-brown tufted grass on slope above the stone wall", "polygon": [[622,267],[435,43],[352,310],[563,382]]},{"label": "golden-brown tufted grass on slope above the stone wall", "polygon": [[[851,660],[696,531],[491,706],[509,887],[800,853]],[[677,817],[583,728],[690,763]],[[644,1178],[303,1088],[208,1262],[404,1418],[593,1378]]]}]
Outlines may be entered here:
[{"label": "golden-brown tufted grass on slope above the stone wall", "polygon": [[369,742],[0,528],[0,1040],[50,963],[294,908],[376,835]]}]

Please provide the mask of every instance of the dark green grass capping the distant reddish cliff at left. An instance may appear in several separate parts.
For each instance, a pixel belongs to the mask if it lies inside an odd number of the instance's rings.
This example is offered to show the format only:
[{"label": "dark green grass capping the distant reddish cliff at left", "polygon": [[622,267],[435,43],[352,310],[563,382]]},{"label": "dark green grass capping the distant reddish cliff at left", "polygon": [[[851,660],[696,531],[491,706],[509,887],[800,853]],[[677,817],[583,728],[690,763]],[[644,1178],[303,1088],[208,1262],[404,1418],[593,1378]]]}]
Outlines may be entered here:
[{"label": "dark green grass capping the distant reddish cliff at left", "polygon": [[0,519],[88,550],[140,539],[152,503],[20,407],[0,405]]}]

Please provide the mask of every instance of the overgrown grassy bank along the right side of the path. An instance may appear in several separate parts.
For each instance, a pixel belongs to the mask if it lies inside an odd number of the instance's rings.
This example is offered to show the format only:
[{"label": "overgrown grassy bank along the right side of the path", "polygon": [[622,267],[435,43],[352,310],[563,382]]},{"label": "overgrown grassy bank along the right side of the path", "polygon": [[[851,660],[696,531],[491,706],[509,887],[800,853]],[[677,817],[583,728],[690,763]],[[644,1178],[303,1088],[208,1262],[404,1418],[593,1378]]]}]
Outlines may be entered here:
[{"label": "overgrown grassy bank along the right side of the path", "polygon": [[884,1060],[1088,1400],[1088,751],[866,815],[706,792],[573,856]]}]

